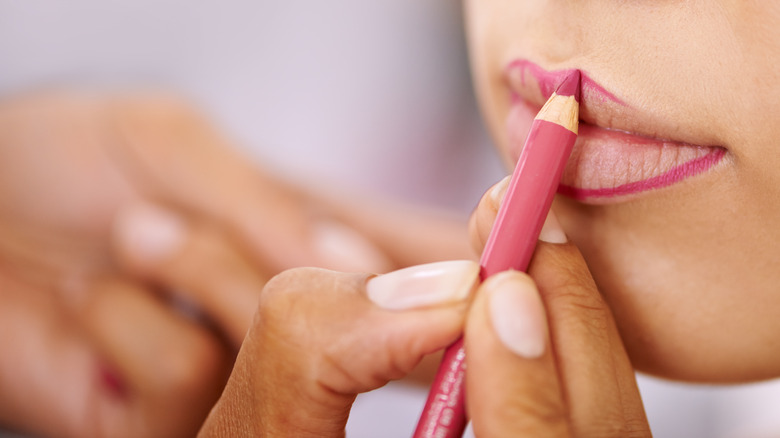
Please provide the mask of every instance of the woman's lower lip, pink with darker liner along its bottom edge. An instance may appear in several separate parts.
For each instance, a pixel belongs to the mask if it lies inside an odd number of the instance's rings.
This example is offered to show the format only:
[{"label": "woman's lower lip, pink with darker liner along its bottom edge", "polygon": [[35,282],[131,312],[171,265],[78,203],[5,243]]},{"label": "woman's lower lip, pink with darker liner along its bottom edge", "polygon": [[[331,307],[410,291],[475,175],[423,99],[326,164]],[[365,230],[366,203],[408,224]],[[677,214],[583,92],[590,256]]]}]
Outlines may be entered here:
[{"label": "woman's lower lip, pink with darker liner along its bottom edge", "polygon": [[[515,159],[536,111],[522,101],[512,106],[507,128]],[[580,123],[558,193],[590,204],[621,202],[706,172],[725,155],[720,147],[659,140]]]}]

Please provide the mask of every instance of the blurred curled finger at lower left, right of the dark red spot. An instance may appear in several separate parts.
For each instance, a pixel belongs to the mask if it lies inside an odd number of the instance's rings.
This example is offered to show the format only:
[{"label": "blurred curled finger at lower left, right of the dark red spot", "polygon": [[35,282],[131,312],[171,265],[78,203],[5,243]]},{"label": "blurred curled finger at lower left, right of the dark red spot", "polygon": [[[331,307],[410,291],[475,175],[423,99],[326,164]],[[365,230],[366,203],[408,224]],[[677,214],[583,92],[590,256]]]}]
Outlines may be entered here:
[{"label": "blurred curled finger at lower left, right of the dark red spot", "polygon": [[192,436],[224,384],[225,347],[131,284],[106,279],[90,297],[86,332],[122,387],[116,394],[116,382],[104,385],[108,394],[95,406],[95,419],[103,422],[98,429],[128,437]]}]

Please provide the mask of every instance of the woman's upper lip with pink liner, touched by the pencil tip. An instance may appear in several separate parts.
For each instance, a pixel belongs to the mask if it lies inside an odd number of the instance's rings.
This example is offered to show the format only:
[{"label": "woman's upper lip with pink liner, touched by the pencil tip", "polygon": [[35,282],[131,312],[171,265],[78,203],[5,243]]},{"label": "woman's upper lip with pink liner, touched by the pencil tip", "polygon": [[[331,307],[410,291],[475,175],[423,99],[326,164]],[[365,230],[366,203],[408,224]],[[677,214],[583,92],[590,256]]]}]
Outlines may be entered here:
[{"label": "woman's upper lip with pink liner, touched by the pencil tip", "polygon": [[[517,59],[507,66],[505,78],[516,97],[541,108],[568,71],[548,71],[531,61]],[[715,139],[686,129],[658,115],[652,108],[627,103],[593,80],[586,71],[581,71],[580,123],[670,142],[715,145]]]}]

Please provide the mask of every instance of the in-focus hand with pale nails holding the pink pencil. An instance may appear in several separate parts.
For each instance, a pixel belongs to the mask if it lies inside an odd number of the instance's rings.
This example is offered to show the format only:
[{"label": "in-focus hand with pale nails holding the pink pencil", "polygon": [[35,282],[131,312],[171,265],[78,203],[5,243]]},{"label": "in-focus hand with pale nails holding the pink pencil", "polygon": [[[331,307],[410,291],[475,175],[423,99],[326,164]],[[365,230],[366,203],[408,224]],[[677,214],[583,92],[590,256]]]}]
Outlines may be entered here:
[{"label": "in-focus hand with pale nails holding the pink pencil", "polygon": [[[491,228],[499,202],[482,199],[475,235]],[[464,395],[478,438],[649,437],[633,369],[585,261],[553,216],[540,238],[530,275],[505,271],[478,286],[469,261],[376,277],[276,277],[200,436],[343,437],[356,395],[464,333]],[[377,435],[405,421],[385,419]]]}]

